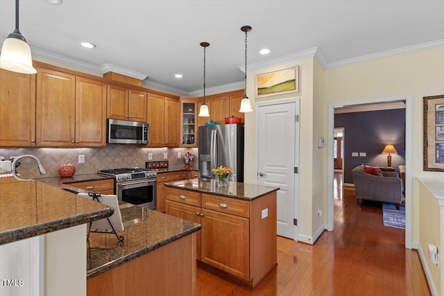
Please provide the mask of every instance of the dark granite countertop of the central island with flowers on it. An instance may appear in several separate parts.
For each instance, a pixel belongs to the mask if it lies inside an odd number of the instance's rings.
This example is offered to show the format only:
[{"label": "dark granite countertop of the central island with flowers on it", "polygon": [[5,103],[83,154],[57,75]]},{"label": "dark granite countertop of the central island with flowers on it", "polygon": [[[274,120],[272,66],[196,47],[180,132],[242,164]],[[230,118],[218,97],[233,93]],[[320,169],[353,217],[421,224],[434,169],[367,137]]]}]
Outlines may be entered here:
[{"label": "dark granite countertop of the central island with flowers on it", "polygon": [[227,187],[219,188],[216,184],[216,180],[200,178],[171,182],[165,184],[165,186],[187,191],[219,195],[237,200],[255,200],[256,198],[260,198],[261,196],[280,189],[279,187],[238,182],[228,182]]}]

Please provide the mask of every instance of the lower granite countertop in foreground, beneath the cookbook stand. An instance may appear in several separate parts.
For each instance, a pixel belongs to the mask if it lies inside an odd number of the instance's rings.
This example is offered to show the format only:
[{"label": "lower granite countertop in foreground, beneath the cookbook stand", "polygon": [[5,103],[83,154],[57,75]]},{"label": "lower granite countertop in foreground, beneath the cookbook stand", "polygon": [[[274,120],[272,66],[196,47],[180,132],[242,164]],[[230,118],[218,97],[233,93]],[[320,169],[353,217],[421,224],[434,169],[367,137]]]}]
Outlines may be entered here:
[{"label": "lower granite countertop in foreground, beneath the cookbook stand", "polygon": [[133,204],[119,206],[124,230],[119,243],[114,234],[92,233],[87,248],[87,278],[197,232],[201,226]]}]

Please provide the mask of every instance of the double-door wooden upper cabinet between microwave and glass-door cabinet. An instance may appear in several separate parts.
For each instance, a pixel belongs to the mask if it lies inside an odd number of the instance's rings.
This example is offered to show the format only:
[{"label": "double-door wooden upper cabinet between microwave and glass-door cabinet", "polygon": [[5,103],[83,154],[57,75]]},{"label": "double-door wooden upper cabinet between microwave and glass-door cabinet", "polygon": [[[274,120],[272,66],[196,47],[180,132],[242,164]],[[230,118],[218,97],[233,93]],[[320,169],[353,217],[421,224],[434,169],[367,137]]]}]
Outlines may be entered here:
[{"label": "double-door wooden upper cabinet between microwave and glass-door cabinet", "polygon": [[179,101],[148,94],[148,147],[179,146]]}]

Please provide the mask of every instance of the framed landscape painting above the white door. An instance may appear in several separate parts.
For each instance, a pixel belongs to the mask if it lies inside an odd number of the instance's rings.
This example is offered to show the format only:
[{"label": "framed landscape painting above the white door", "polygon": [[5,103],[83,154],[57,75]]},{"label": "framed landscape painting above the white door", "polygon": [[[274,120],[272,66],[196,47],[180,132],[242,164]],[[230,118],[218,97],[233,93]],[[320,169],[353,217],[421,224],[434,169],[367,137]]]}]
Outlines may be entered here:
[{"label": "framed landscape painting above the white door", "polygon": [[299,66],[256,75],[256,98],[299,92]]}]

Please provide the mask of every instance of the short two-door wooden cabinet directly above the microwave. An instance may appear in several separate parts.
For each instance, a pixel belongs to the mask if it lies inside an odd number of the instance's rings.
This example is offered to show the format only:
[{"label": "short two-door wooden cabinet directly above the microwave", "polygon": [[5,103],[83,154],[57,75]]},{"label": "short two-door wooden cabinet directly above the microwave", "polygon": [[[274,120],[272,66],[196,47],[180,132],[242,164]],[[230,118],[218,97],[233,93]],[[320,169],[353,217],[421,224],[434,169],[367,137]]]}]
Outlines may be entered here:
[{"label": "short two-door wooden cabinet directly above the microwave", "polygon": [[146,122],[147,105],[146,92],[108,85],[107,118]]}]

